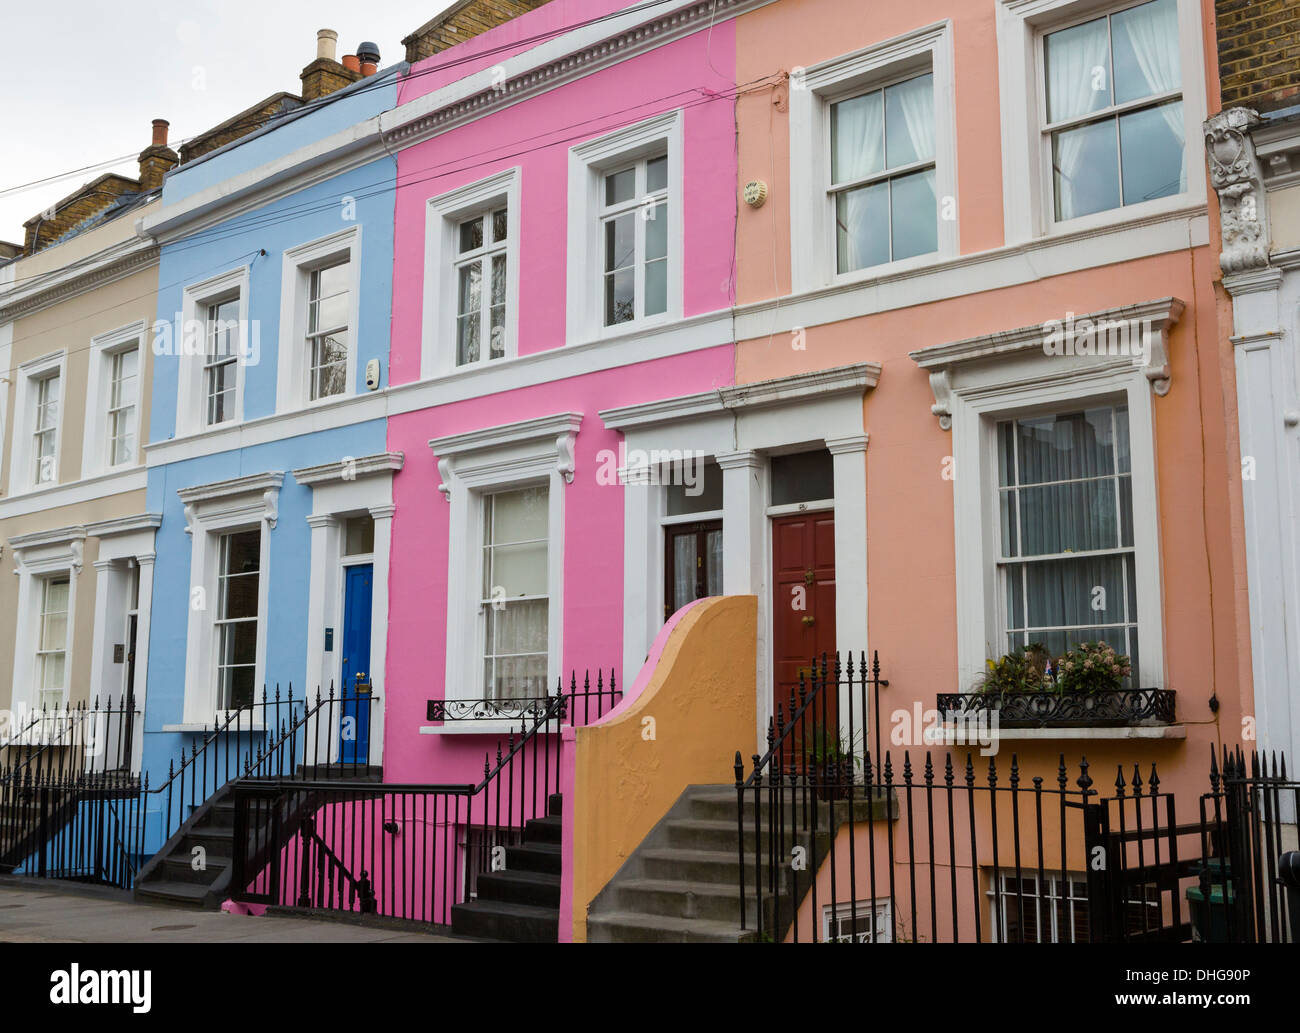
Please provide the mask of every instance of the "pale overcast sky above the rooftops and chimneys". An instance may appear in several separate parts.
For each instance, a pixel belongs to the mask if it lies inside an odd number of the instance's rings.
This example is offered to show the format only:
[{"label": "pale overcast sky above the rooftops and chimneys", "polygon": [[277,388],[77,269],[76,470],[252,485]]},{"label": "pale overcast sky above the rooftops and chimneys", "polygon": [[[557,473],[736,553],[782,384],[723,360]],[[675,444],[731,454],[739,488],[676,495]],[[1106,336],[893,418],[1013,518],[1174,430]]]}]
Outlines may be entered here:
[{"label": "pale overcast sky above the rooftops and chimneys", "polygon": [[[150,123],[172,123],[173,148],[281,90],[316,57],[316,30],[338,56],[363,40],[382,65],[402,38],[451,0],[0,0],[0,240],[109,170],[135,177]],[[126,156],[20,191],[23,183]]]}]

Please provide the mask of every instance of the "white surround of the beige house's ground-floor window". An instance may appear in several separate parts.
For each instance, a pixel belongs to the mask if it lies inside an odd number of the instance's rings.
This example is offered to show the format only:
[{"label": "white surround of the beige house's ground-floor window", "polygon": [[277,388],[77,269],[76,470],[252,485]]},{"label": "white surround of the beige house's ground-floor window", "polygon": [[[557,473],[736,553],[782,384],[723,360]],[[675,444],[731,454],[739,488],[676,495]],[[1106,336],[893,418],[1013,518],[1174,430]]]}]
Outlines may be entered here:
[{"label": "white surround of the beige house's ground-floor window", "polygon": [[36,648],[40,635],[40,602],[44,582],[52,577],[68,577],[69,581],[68,644],[64,656],[68,686],[64,691],[64,704],[72,702],[73,663],[77,651],[77,581],[82,572],[84,543],[86,529],[82,526],[34,531],[9,539],[14,573],[18,574],[18,621],[14,638],[17,647],[13,656],[13,691],[9,704],[14,711],[39,704]]}]

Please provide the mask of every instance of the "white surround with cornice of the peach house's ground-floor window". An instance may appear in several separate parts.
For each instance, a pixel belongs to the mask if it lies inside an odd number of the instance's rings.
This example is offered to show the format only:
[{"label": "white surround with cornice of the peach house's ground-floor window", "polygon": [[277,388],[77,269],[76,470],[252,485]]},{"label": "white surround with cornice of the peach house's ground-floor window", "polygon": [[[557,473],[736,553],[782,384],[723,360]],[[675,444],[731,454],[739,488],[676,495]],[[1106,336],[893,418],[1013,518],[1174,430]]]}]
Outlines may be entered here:
[{"label": "white surround with cornice of the peach house's ground-floor window", "polygon": [[984,338],[913,352],[930,372],[940,426],[952,430],[957,582],[957,670],[959,691],[985,670],[985,660],[1006,652],[998,515],[997,424],[1001,420],[1076,411],[1087,405],[1128,407],[1132,472],[1138,638],[1141,668],[1134,687],[1164,689],[1164,585],[1158,520],[1154,400],[1170,387],[1169,327],[1183,311],[1166,298],[1124,309],[1075,317],[1076,322],[1149,320],[1147,361],[1127,355],[1049,355],[1046,330],[1026,326]]}]

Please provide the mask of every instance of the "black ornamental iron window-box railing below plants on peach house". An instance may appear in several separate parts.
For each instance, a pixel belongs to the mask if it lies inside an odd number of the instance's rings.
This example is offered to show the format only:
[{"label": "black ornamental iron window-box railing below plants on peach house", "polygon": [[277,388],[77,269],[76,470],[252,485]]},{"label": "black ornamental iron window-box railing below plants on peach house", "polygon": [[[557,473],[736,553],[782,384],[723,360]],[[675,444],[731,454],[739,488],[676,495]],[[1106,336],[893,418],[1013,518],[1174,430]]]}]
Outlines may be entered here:
[{"label": "black ornamental iron window-box railing below plants on peach house", "polygon": [[940,693],[950,721],[996,713],[1001,728],[1123,728],[1174,724],[1173,689],[1098,693]]}]

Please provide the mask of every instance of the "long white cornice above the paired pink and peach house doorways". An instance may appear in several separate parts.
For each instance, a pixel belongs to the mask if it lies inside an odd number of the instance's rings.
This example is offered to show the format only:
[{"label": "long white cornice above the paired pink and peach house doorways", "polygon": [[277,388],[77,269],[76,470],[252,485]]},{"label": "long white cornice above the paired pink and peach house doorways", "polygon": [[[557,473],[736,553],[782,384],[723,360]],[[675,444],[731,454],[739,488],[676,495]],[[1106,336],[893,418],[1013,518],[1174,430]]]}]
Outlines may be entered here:
[{"label": "long white cornice above the paired pink and peach house doorways", "polygon": [[647,427],[677,420],[724,413],[734,409],[757,409],[785,405],[807,398],[836,394],[864,394],[880,381],[879,363],[855,363],[850,366],[798,373],[733,387],[719,387],[682,398],[668,398],[637,405],[601,409],[598,416],[610,430]]}]

